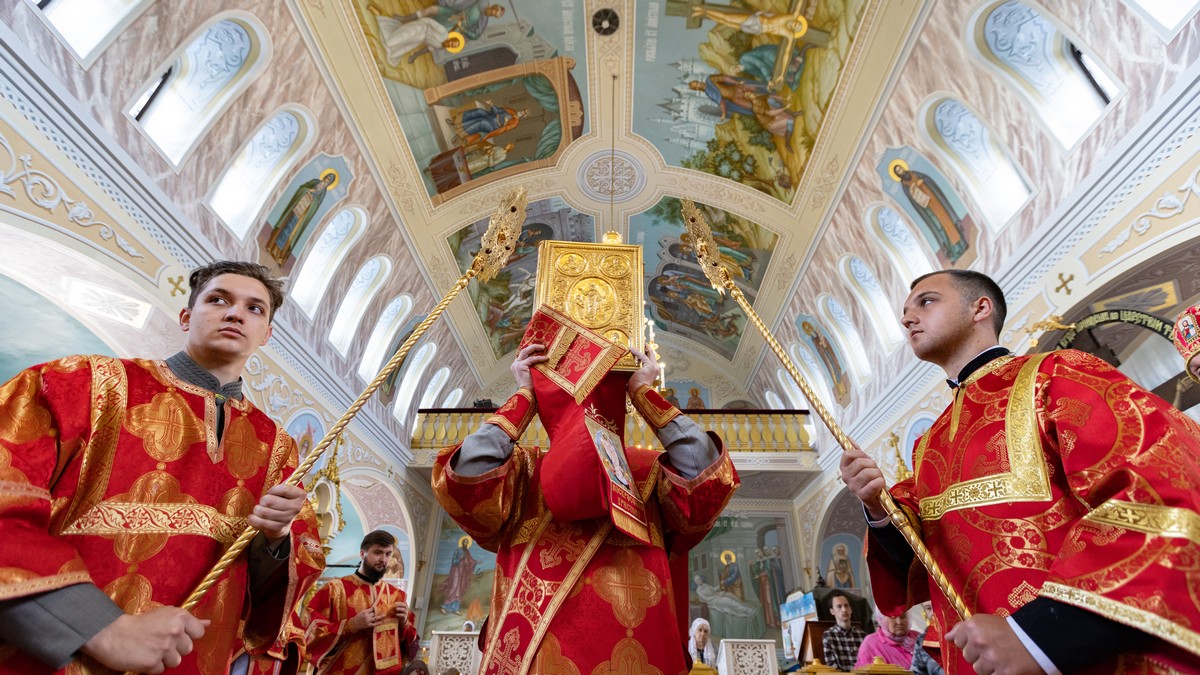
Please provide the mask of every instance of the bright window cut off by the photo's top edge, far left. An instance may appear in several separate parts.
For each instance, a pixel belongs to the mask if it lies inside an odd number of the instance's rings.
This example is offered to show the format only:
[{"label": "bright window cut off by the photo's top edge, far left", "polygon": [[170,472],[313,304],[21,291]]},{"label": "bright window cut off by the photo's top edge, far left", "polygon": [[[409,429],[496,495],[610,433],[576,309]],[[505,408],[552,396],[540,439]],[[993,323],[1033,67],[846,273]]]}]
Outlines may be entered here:
[{"label": "bright window cut off by the photo's top edge, far left", "polygon": [[50,0],[42,16],[84,70],[91,67],[152,0]]}]

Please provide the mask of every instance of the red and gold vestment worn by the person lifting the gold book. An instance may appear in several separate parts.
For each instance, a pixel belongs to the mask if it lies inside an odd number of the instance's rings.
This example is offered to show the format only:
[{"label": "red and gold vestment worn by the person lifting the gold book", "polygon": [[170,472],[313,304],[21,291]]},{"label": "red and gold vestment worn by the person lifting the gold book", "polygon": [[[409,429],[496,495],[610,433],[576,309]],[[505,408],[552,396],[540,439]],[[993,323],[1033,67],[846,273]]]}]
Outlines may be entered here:
[{"label": "red and gold vestment worn by the person lifting the gold book", "polygon": [[[678,411],[640,410],[652,424]],[[635,398],[635,401],[637,399]],[[671,414],[673,412],[673,414]],[[516,437],[533,417],[524,390],[500,410]],[[460,476],[458,447],[433,467],[433,490],[479,545],[496,552],[496,578],[480,673],[604,675],[686,670],[688,550],[712,528],[738,485],[728,453],[695,478],[665,454],[626,448],[635,490],[646,506],[649,544],[617,530],[611,518],[564,521],[546,507],[545,453],[517,446],[498,468]],[[563,489],[570,489],[564,485]]]}]

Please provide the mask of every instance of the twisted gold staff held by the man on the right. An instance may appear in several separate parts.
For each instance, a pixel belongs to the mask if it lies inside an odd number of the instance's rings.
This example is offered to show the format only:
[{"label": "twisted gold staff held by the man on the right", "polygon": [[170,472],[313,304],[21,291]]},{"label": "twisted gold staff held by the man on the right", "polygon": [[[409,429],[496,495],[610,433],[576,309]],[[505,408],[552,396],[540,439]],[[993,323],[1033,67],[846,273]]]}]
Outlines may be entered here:
[{"label": "twisted gold staff held by the man on the right", "polygon": [[[750,303],[742,293],[742,289],[733,283],[733,277],[730,276],[730,271],[721,264],[721,252],[716,247],[713,239],[713,232],[708,227],[704,215],[696,208],[696,204],[692,203],[691,199],[683,199],[682,202],[684,227],[695,241],[696,259],[700,262],[700,267],[704,270],[704,275],[708,276],[708,281],[713,285],[713,288],[718,292],[721,292],[722,289],[728,291],[730,295],[737,300],[738,306],[742,307],[742,311],[746,312],[746,317],[750,318],[750,322],[758,329],[758,333],[762,334],[767,345],[769,345],[770,350],[775,352],[776,357],[779,357],[779,360],[784,364],[784,369],[792,376],[792,380],[796,381],[796,384],[800,388],[804,398],[809,401],[809,406],[812,408],[812,412],[821,418],[821,422],[823,422],[829,429],[829,432],[833,434],[838,444],[841,446],[844,450],[858,448],[858,444],[854,443],[845,430],[842,430],[841,425],[838,424],[838,420],[833,418],[833,413],[829,412],[829,408],[824,407],[824,404],[821,402],[820,396],[817,396],[817,393],[809,384],[808,380],[805,380],[804,376],[800,375],[800,371],[797,370],[796,364],[792,363],[787,352],[784,351],[784,346],[779,344],[779,340],[772,335],[767,324],[758,317],[758,312],[754,311],[754,307],[750,306]],[[925,569],[934,579],[934,583],[950,602],[954,611],[956,611],[959,617],[962,620],[970,619],[971,610],[967,609],[967,605],[962,602],[962,597],[959,592],[950,586],[950,580],[947,579],[941,566],[938,566],[937,561],[934,560],[934,556],[930,555],[929,549],[925,546],[925,542],[920,538],[920,533],[917,532],[912,522],[895,503],[895,500],[892,498],[892,494],[888,492],[886,486],[880,492],[880,502],[883,506],[883,509],[888,513],[888,518],[892,519],[893,525],[900,530],[905,540],[908,542],[913,552],[917,554],[917,558],[925,566]]]}]

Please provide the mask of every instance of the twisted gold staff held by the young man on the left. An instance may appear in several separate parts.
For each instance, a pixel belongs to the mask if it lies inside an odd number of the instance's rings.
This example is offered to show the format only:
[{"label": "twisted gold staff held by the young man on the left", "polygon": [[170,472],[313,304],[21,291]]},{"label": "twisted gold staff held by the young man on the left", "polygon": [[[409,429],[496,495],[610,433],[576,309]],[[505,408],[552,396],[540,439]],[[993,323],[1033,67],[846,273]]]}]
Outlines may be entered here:
[{"label": "twisted gold staff held by the young man on the left", "polygon": [[[433,325],[433,322],[436,322],[438,317],[446,311],[450,303],[458,297],[458,293],[461,293],[468,283],[470,283],[472,279],[479,276],[480,281],[487,281],[494,277],[500,268],[508,263],[509,257],[512,255],[512,249],[516,245],[517,237],[521,234],[521,226],[524,225],[526,202],[527,192],[524,187],[514,189],[511,192],[505,195],[503,199],[500,199],[499,207],[497,207],[496,213],[492,214],[492,219],[487,223],[487,232],[484,233],[481,247],[479,252],[475,253],[475,259],[470,263],[470,269],[464,271],[463,275],[458,277],[458,281],[455,282],[454,287],[451,287],[450,291],[448,291],[442,298],[442,301],[430,310],[425,321],[416,324],[416,328],[414,328],[413,333],[407,340],[404,340],[404,344],[396,350],[396,353],[392,354],[390,359],[388,359],[388,363],[385,363],[383,369],[379,370],[379,374],[376,375],[374,380],[367,384],[367,388],[359,394],[359,398],[350,404],[350,407],[342,413],[342,417],[329,428],[329,431],[325,432],[325,437],[322,438],[320,443],[317,443],[317,447],[314,447],[308,453],[308,456],[300,462],[300,466],[298,466],[292,476],[284,480],[284,484],[300,484],[300,480],[307,476],[310,471],[312,471],[312,467],[317,464],[317,460],[320,459],[320,455],[325,453],[335,440],[341,437],[346,426],[354,419],[354,416],[362,410],[362,406],[371,400],[371,396],[374,395],[379,387],[383,387],[383,383],[388,381],[388,377],[404,363],[408,358],[408,352],[410,352],[413,346],[425,336],[425,333]],[[641,258],[638,258],[638,262],[640,261]],[[638,270],[641,270],[640,267]],[[224,555],[222,555],[221,560],[212,566],[209,574],[200,580],[199,585],[196,586],[196,590],[187,597],[187,601],[184,602],[181,609],[185,611],[196,609],[196,605],[199,604],[204,593],[206,593],[209,589],[216,584],[217,579],[221,578],[221,574],[223,574],[224,571],[228,569],[235,560],[238,560],[238,556],[241,555],[241,551],[245,550],[245,548],[250,544],[250,540],[253,539],[257,533],[258,530],[256,527],[247,525],[246,528],[241,531],[238,539],[234,540],[233,544],[229,544]]]}]

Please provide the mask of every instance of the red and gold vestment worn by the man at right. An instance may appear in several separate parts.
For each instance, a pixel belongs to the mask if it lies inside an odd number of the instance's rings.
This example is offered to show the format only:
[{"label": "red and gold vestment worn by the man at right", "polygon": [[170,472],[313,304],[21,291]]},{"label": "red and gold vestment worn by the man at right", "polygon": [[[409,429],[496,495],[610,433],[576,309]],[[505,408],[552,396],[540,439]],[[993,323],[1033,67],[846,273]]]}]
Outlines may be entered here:
[{"label": "red and gold vestment worn by the man at right", "polygon": [[[1081,352],[1001,357],[955,389],[913,465],[892,494],[972,613],[1009,616],[1050,598],[1156,638],[1098,671],[1193,671],[1200,429],[1190,419]],[[886,614],[929,595],[919,563],[910,577],[871,544],[868,565]],[[953,627],[936,590],[932,602]],[[973,673],[953,643],[942,655],[949,675]]]}]

